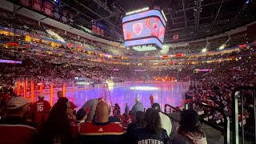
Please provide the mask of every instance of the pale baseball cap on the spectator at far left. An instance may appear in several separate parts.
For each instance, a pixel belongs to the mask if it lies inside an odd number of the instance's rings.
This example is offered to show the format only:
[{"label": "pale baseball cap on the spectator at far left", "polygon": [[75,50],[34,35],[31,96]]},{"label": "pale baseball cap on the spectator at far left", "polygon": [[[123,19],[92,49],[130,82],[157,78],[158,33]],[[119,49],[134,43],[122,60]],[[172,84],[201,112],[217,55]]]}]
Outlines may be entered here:
[{"label": "pale baseball cap on the spectator at far left", "polygon": [[30,100],[23,97],[11,98],[10,101],[7,103],[7,109],[9,110],[18,109],[19,107],[22,107],[27,103],[30,103]]}]

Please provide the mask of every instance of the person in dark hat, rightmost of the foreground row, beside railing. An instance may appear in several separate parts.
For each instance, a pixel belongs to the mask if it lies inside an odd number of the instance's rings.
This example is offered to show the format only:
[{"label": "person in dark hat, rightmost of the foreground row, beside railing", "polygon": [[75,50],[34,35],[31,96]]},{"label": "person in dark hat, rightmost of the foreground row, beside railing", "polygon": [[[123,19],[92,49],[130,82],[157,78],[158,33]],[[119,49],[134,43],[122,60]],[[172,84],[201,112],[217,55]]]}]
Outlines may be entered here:
[{"label": "person in dark hat, rightmost of the foreground row, beside railing", "polygon": [[206,144],[206,134],[204,134],[199,127],[198,113],[195,110],[184,110],[181,114],[181,121],[177,128],[176,134],[174,134],[174,144]]}]

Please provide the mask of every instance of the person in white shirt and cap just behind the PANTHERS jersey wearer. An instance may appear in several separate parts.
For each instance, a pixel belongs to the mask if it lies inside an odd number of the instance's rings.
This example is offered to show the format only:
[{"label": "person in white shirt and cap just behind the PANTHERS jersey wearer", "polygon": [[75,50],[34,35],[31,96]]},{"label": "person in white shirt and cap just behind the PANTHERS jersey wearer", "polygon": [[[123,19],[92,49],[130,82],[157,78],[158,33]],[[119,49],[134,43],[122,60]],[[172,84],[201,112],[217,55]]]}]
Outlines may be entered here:
[{"label": "person in white shirt and cap just behind the PANTHERS jersey wearer", "polygon": [[153,103],[152,108],[154,110],[158,111],[160,119],[161,119],[161,127],[166,130],[168,136],[170,137],[170,132],[171,132],[171,128],[172,128],[170,118],[166,114],[162,113],[160,105],[158,103]]}]

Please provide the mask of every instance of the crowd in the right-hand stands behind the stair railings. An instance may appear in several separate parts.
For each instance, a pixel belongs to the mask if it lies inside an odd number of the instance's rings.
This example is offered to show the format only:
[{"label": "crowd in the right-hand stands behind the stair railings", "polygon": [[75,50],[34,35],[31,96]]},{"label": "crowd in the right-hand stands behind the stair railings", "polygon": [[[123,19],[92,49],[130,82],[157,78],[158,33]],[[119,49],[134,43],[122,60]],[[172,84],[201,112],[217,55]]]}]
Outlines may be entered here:
[{"label": "crowd in the right-hand stands behind the stair railings", "polygon": [[[193,74],[195,82],[190,86],[186,94],[187,99],[195,102],[204,102],[210,106],[216,106],[224,110],[227,117],[232,118],[232,97],[233,90],[238,86],[256,86],[256,65],[255,59],[246,59],[239,62],[224,62],[218,64],[207,64],[201,68],[210,68],[213,71],[202,74]],[[254,96],[250,90],[242,92],[245,105],[244,117],[242,118],[242,106],[239,104],[239,126],[244,125],[247,136],[254,136]],[[241,102],[241,101],[240,101]],[[201,114],[206,121],[222,124],[224,116],[219,111],[210,110],[194,104],[191,106]]]}]

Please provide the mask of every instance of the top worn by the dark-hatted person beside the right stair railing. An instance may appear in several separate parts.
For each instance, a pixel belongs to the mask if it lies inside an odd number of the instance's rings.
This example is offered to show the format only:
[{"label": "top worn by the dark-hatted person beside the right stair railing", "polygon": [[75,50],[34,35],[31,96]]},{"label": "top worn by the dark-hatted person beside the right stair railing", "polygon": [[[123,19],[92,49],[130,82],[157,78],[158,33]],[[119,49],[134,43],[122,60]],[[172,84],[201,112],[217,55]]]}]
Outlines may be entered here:
[{"label": "top worn by the dark-hatted person beside the right stair railing", "polygon": [[174,134],[173,144],[207,144],[205,134],[194,134],[188,132],[184,135]]}]

